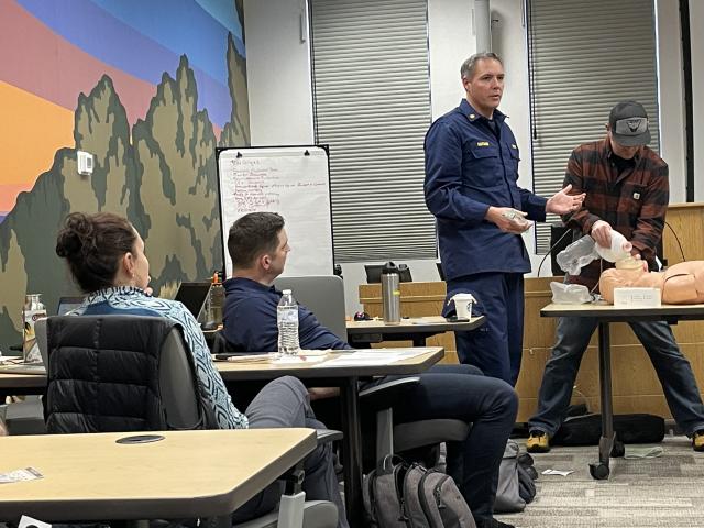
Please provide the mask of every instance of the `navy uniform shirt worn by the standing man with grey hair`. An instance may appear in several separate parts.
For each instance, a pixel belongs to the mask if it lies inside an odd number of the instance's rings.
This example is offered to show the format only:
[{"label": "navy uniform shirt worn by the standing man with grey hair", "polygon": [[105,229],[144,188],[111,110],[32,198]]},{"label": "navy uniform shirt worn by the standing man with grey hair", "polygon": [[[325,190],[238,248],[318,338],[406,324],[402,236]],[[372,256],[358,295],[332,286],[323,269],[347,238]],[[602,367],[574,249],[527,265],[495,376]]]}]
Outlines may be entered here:
[{"label": "navy uniform shirt worn by the standing man with grey hair", "polygon": [[426,134],[426,204],[437,219],[447,279],[484,272],[530,271],[519,234],[484,219],[490,206],[513,207],[544,221],[547,199],[517,185],[519,152],[506,116],[490,120],[463,99]]}]

